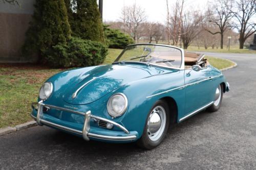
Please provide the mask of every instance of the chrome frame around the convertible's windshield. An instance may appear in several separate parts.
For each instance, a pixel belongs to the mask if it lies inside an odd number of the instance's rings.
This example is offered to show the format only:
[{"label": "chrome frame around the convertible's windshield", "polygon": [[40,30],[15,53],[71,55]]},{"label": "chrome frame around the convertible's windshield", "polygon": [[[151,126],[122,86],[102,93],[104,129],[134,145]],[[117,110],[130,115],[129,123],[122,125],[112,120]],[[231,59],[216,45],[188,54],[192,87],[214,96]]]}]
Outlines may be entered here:
[{"label": "chrome frame around the convertible's windshield", "polygon": [[[170,47],[170,48],[176,48],[177,50],[181,51],[181,65],[180,67],[169,67],[169,66],[163,66],[160,64],[156,64],[156,63],[149,63],[149,65],[156,65],[159,67],[165,67],[165,68],[173,68],[173,69],[179,69],[179,70],[184,70],[185,69],[185,60],[184,60],[184,50],[182,48],[176,47],[176,46],[172,46],[172,45],[165,45],[165,44],[154,44],[154,43],[138,43],[138,44],[131,44],[131,45],[127,45],[124,50],[121,52],[121,54],[115,59],[115,61],[113,62],[121,62],[118,61],[120,59],[120,57],[123,55],[123,53],[126,51],[127,47],[129,46],[135,46],[135,45],[156,45],[156,46],[166,46],[166,47]],[[126,63],[144,63],[147,64],[145,62],[140,62],[140,61],[125,61]]]}]

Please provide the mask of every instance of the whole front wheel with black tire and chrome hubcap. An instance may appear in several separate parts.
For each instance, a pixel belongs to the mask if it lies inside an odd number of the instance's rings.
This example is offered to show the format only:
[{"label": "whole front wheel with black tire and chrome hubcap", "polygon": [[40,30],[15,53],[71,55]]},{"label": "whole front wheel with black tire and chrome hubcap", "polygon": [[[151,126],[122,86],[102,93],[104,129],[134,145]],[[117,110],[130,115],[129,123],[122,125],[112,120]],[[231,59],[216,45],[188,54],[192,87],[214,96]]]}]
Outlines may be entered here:
[{"label": "whole front wheel with black tire and chrome hubcap", "polygon": [[147,115],[143,134],[138,140],[139,147],[151,150],[164,139],[170,123],[169,109],[164,101],[157,101]]}]

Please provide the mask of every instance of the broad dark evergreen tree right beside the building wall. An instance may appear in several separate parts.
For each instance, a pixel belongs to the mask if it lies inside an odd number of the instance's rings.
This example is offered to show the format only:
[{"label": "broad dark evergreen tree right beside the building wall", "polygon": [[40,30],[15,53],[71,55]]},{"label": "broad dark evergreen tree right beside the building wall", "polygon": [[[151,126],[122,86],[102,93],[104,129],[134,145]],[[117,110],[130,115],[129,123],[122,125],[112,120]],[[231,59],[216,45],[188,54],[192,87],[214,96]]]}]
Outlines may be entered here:
[{"label": "broad dark evergreen tree right beside the building wall", "polygon": [[37,0],[30,28],[23,46],[24,55],[46,51],[58,43],[67,43],[71,38],[67,8],[64,0]]}]

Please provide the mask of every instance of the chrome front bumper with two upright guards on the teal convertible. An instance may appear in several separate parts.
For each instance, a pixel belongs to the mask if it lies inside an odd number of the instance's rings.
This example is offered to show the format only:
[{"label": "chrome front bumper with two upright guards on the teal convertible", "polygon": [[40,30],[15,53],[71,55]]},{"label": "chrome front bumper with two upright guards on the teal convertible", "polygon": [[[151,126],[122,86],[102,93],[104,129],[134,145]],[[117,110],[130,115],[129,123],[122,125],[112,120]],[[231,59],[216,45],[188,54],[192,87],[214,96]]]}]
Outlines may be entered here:
[{"label": "chrome front bumper with two upright guards on the teal convertible", "polygon": [[[61,107],[57,107],[57,106],[53,106],[53,105],[47,105],[47,104],[44,104],[42,102],[43,101],[40,101],[38,103],[32,103],[32,105],[31,105],[33,109],[35,109],[34,105],[37,105],[37,107],[38,107],[37,116],[35,117],[33,114],[31,114],[31,116],[36,120],[36,122],[39,126],[42,126],[42,125],[45,124],[45,125],[49,125],[49,126],[58,128],[58,129],[66,130],[66,131],[73,132],[73,133],[76,133],[76,134],[80,134],[80,135],[82,135],[83,139],[87,140],[87,141],[90,140],[89,137],[93,137],[93,138],[97,138],[97,139],[105,139],[105,140],[133,140],[133,139],[137,138],[135,135],[131,135],[131,136],[105,136],[105,135],[98,135],[98,134],[90,133],[90,119],[94,118],[94,119],[97,119],[97,120],[102,120],[102,121],[108,122],[108,123],[118,127],[119,129],[124,131],[126,134],[130,134],[130,132],[126,128],[119,125],[118,123],[113,122],[112,120],[109,120],[109,119],[106,119],[106,118],[95,116],[95,115],[91,114],[91,111],[79,112],[79,111],[74,111],[74,110],[71,110],[71,109],[61,108]],[[51,123],[47,120],[42,119],[42,116],[44,114],[44,113],[42,113],[42,107],[43,106],[48,107],[48,108],[53,108],[53,109],[56,109],[56,110],[67,111],[67,112],[83,115],[84,116],[84,124],[83,124],[82,131],[72,129],[72,128],[68,128],[68,127],[65,127],[65,126],[61,126],[61,125],[58,125],[58,124],[54,124],[54,123]]]}]

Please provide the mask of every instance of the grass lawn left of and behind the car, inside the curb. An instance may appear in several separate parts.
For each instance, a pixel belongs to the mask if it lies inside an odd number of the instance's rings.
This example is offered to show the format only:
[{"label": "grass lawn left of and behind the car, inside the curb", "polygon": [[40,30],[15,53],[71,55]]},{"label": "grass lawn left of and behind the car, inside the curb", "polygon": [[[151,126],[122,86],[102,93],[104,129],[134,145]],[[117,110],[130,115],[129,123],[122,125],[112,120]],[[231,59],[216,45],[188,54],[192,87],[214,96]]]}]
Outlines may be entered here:
[{"label": "grass lawn left of and behind the car, inside the curb", "polygon": [[[112,63],[121,53],[109,49],[104,64]],[[233,63],[224,59],[207,57],[215,67],[221,69]],[[0,64],[0,128],[15,126],[32,120],[30,103],[37,100],[38,91],[47,78],[62,71],[34,65]]]}]

